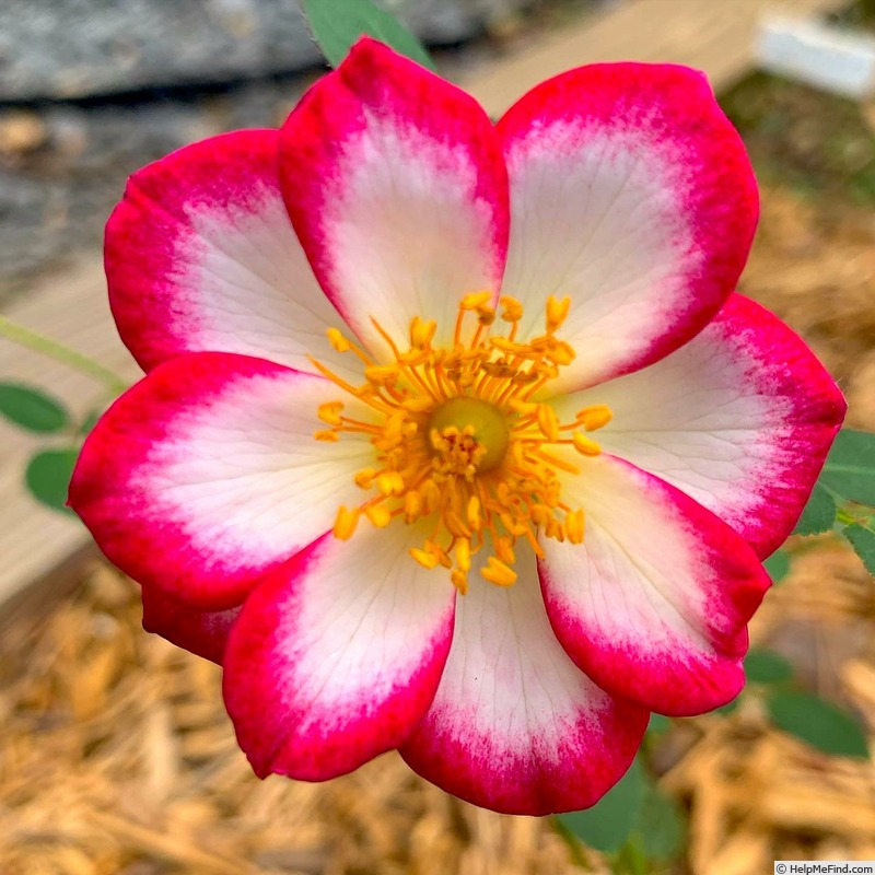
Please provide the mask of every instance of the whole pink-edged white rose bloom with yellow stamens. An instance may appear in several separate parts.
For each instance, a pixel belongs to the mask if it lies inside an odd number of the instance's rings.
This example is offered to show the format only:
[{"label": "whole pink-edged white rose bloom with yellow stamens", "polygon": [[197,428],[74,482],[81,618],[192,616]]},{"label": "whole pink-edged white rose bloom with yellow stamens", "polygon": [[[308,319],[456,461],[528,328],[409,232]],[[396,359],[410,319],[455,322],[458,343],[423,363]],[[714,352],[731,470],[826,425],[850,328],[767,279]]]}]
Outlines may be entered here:
[{"label": "whole pink-edged white rose bloom with yellow stamens", "polygon": [[397,748],[578,809],[651,711],[738,693],[844,413],[734,292],[757,214],[696,71],[582,67],[493,125],[371,39],[281,130],[131,177],[106,271],[147,375],[70,502],[145,627],[224,666],[259,775]]}]

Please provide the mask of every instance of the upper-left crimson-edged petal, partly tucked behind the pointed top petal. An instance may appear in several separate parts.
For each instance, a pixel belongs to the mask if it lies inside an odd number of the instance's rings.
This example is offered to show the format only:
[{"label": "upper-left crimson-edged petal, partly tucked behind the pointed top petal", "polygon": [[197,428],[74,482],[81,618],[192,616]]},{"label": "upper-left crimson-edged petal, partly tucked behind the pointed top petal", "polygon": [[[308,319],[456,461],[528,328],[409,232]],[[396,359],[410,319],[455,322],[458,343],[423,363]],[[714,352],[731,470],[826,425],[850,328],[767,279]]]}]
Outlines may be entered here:
[{"label": "upper-left crimson-edged petal, partly tucked behind the pointed top petal", "polygon": [[279,131],[203,140],[130,177],[106,225],[109,303],[144,370],[185,352],[342,370],[325,337],[342,325],[283,206]]}]

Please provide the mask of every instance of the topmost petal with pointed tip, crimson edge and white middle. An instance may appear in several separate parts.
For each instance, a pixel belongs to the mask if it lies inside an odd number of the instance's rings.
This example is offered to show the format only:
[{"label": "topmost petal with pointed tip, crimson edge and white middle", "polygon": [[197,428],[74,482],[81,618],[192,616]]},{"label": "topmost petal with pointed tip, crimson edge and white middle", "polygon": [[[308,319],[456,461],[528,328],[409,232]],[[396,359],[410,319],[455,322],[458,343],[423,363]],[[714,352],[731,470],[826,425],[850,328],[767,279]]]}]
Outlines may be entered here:
[{"label": "topmost petal with pointed tip, crimson edge and white middle", "polygon": [[413,316],[452,347],[459,299],[498,294],[508,174],[465,92],[363,38],[285,121],[280,183],[328,296],[372,351],[371,317],[399,345]]}]

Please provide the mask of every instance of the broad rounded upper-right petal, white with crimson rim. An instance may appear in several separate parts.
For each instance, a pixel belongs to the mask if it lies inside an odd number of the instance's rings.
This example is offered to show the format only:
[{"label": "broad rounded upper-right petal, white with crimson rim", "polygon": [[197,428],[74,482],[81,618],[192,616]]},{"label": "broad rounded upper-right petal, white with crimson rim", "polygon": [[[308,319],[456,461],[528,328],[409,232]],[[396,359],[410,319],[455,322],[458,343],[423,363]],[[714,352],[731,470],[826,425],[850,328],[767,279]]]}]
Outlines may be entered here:
[{"label": "broad rounded upper-right petal, white with crimson rim", "polygon": [[735,289],[759,213],[738,133],[704,75],[599,63],[548,80],[498,124],[511,184],[504,292],[540,329],[570,295],[561,331],[578,358],[556,392],[657,361]]}]

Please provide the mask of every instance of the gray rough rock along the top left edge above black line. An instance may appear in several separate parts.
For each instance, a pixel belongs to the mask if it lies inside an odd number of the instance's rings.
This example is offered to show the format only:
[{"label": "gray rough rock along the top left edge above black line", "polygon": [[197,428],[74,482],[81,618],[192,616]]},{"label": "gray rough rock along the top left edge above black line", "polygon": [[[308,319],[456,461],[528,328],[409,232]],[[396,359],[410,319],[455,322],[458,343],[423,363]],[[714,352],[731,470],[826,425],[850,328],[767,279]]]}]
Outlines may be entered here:
[{"label": "gray rough rock along the top left edge above black line", "polygon": [[[385,0],[454,42],[525,0]],[[0,101],[81,98],[318,63],[295,0],[2,0]]]}]

